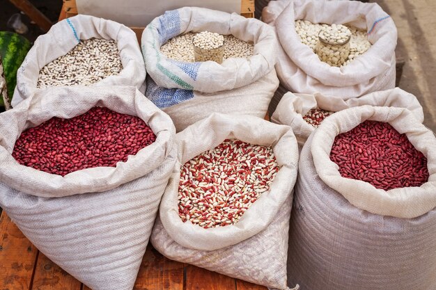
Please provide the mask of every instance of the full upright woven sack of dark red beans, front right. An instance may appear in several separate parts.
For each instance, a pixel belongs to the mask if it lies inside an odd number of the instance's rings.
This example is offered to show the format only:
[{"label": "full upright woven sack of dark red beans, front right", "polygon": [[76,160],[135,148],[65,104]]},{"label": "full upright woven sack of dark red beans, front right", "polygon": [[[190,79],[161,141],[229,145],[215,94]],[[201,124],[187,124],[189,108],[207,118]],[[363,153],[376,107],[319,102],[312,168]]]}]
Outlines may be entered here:
[{"label": "full upright woven sack of dark red beans, front right", "polygon": [[[428,159],[420,187],[377,189],[340,176],[335,136],[389,122]],[[436,138],[405,108],[361,106],[327,118],[301,152],[288,279],[302,289],[436,289]]]}]

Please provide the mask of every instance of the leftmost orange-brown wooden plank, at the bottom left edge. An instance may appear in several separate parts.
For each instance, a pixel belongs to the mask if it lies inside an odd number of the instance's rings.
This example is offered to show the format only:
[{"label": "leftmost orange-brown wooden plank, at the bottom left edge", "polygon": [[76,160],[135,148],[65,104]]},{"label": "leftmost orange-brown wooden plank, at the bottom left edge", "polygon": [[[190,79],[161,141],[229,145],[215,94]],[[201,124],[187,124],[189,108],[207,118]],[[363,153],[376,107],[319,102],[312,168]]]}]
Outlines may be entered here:
[{"label": "leftmost orange-brown wooden plank, at the bottom left edge", "polygon": [[0,289],[28,290],[38,249],[3,211],[0,218]]}]

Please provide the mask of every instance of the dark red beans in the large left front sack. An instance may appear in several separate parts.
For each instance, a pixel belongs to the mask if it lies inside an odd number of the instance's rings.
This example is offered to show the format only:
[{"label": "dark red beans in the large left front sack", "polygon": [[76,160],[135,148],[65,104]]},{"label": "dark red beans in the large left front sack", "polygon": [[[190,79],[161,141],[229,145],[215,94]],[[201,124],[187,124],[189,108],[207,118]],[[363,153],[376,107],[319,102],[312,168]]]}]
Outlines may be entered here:
[{"label": "dark red beans in the large left front sack", "polygon": [[75,118],[52,118],[27,129],[15,142],[12,155],[24,166],[65,176],[84,168],[115,167],[155,140],[153,131],[140,118],[94,107]]}]

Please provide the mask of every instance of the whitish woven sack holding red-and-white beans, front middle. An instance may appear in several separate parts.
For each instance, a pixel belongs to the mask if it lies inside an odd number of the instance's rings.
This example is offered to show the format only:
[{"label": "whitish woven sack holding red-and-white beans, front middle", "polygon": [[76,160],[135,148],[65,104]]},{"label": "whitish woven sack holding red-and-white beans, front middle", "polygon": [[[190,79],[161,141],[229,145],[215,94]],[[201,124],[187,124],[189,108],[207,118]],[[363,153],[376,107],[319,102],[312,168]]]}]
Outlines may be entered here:
[{"label": "whitish woven sack holding red-and-white beans, front middle", "polygon": [[[297,178],[297,141],[289,127],[260,118],[212,114],[176,136],[178,160],[150,241],[162,255],[277,289],[286,286],[288,224]],[[272,146],[279,166],[270,191],[235,225],[204,229],[178,216],[180,166],[226,138]]]}]

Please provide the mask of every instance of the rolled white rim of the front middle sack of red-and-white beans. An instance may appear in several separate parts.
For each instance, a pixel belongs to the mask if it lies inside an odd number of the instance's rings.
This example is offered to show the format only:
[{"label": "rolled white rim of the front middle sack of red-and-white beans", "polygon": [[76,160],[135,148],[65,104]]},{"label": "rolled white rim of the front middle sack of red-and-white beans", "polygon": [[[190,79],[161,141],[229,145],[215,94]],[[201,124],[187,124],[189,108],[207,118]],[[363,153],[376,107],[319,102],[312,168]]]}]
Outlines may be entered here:
[{"label": "rolled white rim of the front middle sack of red-and-white beans", "polygon": [[[249,118],[247,118],[249,117]],[[221,120],[220,120],[221,119]],[[235,119],[237,121],[235,121]],[[244,120],[245,119],[245,120]],[[258,122],[268,122],[261,118],[251,117],[251,116],[238,116],[238,115],[225,115],[221,113],[213,113],[209,118],[205,118],[201,121],[194,123],[194,127],[198,127],[198,124],[210,124],[210,122],[215,122],[215,124],[240,124],[238,122],[247,122],[247,124],[254,119]],[[180,143],[179,143],[179,161],[171,175],[169,184],[162,197],[162,202],[159,208],[160,219],[162,225],[164,226],[166,232],[171,236],[171,239],[176,241],[176,243],[195,250],[218,250],[220,248],[225,248],[229,245],[234,245],[240,243],[251,236],[258,234],[260,231],[265,229],[274,217],[277,215],[277,211],[280,209],[281,205],[286,201],[286,198],[293,192],[293,186],[297,180],[297,168],[298,168],[298,146],[295,135],[292,129],[285,125],[279,124],[269,124],[270,127],[277,127],[280,129],[280,138],[272,145],[274,154],[276,154],[274,147],[282,143],[280,146],[284,147],[286,143],[289,148],[287,152],[283,152],[280,155],[286,156],[286,163],[281,164],[281,168],[275,177],[276,180],[272,182],[270,191],[265,191],[256,202],[254,202],[247,211],[242,215],[238,223],[234,225],[227,225],[226,227],[212,227],[205,229],[199,225],[194,225],[189,222],[183,223],[181,218],[178,216],[178,191],[171,191],[171,187],[178,188],[178,182],[180,180],[180,166],[182,166],[183,161],[189,161],[192,158],[189,156],[184,156],[180,153]],[[281,127],[281,128],[280,128]],[[191,127],[192,128],[192,127]],[[189,127],[188,127],[189,129]],[[277,130],[276,130],[277,131]],[[181,132],[183,133],[183,131]],[[230,130],[227,134],[219,133],[217,138],[219,138],[219,144],[222,143],[226,138],[235,138],[233,135],[234,131]],[[180,134],[180,133],[179,133]],[[179,138],[180,135],[178,134]],[[269,133],[272,136],[272,133]],[[188,136],[183,136],[182,138],[187,138]],[[239,139],[240,140],[240,139]],[[244,140],[242,140],[244,141]],[[244,141],[244,142],[247,142]],[[215,142],[217,143],[217,142]],[[215,143],[213,145],[215,145]],[[213,146],[216,147],[216,146]],[[212,148],[213,148],[212,147]],[[210,149],[212,149],[210,148]],[[204,152],[204,151],[203,151]],[[294,152],[291,156],[289,152]],[[198,152],[201,154],[201,152]],[[197,154],[197,155],[198,155]],[[182,161],[182,162],[180,162]],[[284,186],[277,186],[277,179],[280,178],[281,182],[286,181]],[[274,185],[275,184],[275,185]],[[284,188],[287,188],[286,190]],[[174,197],[176,195],[176,197]],[[272,211],[265,211],[272,205]],[[262,223],[254,223],[254,219],[258,216],[265,217]],[[195,241],[195,242],[194,242]]]}]

